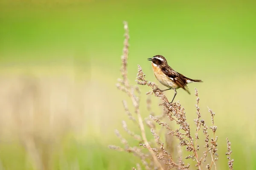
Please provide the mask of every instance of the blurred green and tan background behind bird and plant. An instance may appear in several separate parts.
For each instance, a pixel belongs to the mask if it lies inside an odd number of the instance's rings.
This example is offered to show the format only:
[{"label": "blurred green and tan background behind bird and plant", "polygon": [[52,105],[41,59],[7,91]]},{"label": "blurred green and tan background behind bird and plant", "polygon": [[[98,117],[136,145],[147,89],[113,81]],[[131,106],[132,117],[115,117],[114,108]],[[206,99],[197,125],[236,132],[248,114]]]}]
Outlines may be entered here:
[{"label": "blurred green and tan background behind bird and plant", "polygon": [[[122,108],[122,99],[130,101],[115,86],[124,20],[131,84],[138,64],[156,82],[146,60],[156,54],[187,77],[202,79],[189,84],[192,95],[179,89],[175,98],[188,122],[194,126],[198,88],[208,126],[207,106],[216,113],[219,169],[228,169],[226,137],[234,168],[256,169],[255,8],[253,0],[0,0],[0,169],[129,170],[139,162],[108,149],[121,145],[116,128],[137,144],[122,120],[139,132]],[[140,89],[146,117],[150,89]],[[151,99],[154,113],[162,114],[160,101]],[[201,141],[203,146],[203,136]]]}]

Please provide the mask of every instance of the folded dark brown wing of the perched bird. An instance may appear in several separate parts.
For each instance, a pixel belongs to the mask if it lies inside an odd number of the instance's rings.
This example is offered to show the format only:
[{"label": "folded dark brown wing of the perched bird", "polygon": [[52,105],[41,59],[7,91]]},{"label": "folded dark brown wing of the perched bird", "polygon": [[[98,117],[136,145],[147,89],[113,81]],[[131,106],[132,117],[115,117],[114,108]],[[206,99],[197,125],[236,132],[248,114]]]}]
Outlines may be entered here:
[{"label": "folded dark brown wing of the perched bird", "polygon": [[162,68],[163,73],[171,79],[173,82],[175,82],[178,86],[183,88],[185,91],[187,91],[189,94],[189,89],[186,86],[186,77],[182,74],[174,71],[170,66],[165,66]]}]

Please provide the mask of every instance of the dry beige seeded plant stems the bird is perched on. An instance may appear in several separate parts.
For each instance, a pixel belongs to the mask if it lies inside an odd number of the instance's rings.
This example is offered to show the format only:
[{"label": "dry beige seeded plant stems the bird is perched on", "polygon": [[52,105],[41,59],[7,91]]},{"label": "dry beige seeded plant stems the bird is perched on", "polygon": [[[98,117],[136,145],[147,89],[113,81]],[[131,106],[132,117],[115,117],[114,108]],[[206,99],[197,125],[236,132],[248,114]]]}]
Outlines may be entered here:
[{"label": "dry beige seeded plant stems the bird is perched on", "polygon": [[[160,105],[163,107],[164,116],[169,119],[169,122],[175,123],[179,125],[178,129],[172,128],[169,123],[163,122],[161,119],[164,117],[160,116],[152,116],[149,115],[149,119],[145,118],[143,120],[141,113],[140,113],[140,90],[135,85],[130,85],[128,78],[127,78],[127,61],[128,61],[128,24],[124,23],[125,29],[125,41],[124,41],[124,48],[123,48],[123,55],[122,55],[122,79],[118,79],[117,88],[119,90],[128,94],[129,98],[134,107],[134,114],[131,113],[127,106],[127,102],[123,101],[123,105],[125,108],[125,112],[127,113],[129,119],[131,119],[136,126],[140,129],[140,134],[135,134],[128,129],[125,121],[123,121],[123,128],[125,131],[135,140],[139,141],[138,145],[131,147],[128,144],[128,141],[121,136],[118,130],[116,130],[116,136],[119,137],[122,144],[124,144],[124,148],[110,145],[109,147],[114,150],[118,151],[126,151],[128,153],[133,153],[135,156],[138,156],[141,159],[141,164],[147,170],[167,170],[167,169],[177,169],[177,170],[188,170],[189,168],[195,167],[198,170],[217,170],[216,161],[218,161],[218,149],[217,149],[217,142],[218,136],[216,136],[217,126],[215,126],[214,116],[215,113],[212,112],[211,109],[208,108],[209,113],[212,119],[212,126],[208,128],[204,119],[201,119],[201,113],[199,108],[199,96],[198,90],[195,89],[195,96],[196,96],[196,119],[194,119],[196,130],[195,130],[195,137],[193,132],[191,131],[190,125],[187,122],[186,112],[185,109],[180,105],[179,102],[176,103],[169,103],[168,98],[160,91],[158,86],[154,82],[150,82],[145,79],[145,74],[143,73],[142,68],[138,65],[138,74],[137,74],[137,84],[139,85],[147,85],[151,88],[151,91],[146,93],[147,95],[151,94],[160,99],[162,102]],[[151,111],[150,107],[150,100],[147,101],[147,108],[148,111]],[[166,150],[166,144],[164,144],[160,140],[160,133],[157,133],[156,124],[166,128],[167,136],[172,136],[179,141],[178,144],[178,157],[175,158],[175,155],[172,151]],[[154,137],[154,141],[149,140],[146,136],[145,126],[148,126],[151,129],[151,134]],[[211,130],[212,133],[209,133],[208,130]],[[200,147],[198,144],[199,140],[199,131],[202,131],[204,134],[204,142],[205,145]],[[165,136],[165,137],[167,137]],[[211,136],[211,137],[210,137]],[[202,139],[200,137],[200,139]],[[182,154],[181,147],[185,148],[186,152]],[[231,148],[230,142],[227,139],[227,147],[228,152],[228,164],[230,170],[233,169],[233,159],[230,158]],[[146,150],[144,150],[145,148]],[[147,152],[148,151],[148,152]],[[186,156],[184,156],[186,154]],[[182,156],[183,155],[183,156]],[[207,157],[210,157],[208,160]],[[183,159],[192,159],[194,162],[194,166],[190,166],[190,164],[185,164]],[[135,167],[132,168],[135,170]],[[140,164],[137,164],[137,169],[141,169]]]}]

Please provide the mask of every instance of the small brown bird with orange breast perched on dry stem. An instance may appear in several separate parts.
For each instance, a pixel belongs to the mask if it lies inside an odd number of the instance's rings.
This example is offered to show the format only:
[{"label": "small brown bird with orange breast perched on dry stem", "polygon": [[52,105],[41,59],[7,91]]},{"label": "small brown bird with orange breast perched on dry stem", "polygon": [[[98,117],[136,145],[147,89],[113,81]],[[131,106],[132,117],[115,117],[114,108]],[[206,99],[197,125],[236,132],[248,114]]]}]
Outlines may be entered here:
[{"label": "small brown bird with orange breast perched on dry stem", "polygon": [[161,55],[156,55],[152,58],[148,58],[148,60],[151,61],[154,75],[157,78],[157,80],[162,85],[165,85],[166,87],[168,87],[168,89],[160,90],[160,91],[163,92],[170,89],[173,89],[175,91],[172,102],[177,94],[176,89],[183,88],[190,94],[187,84],[191,82],[202,82],[201,80],[198,80],[198,79],[189,79],[188,77],[185,77],[184,75],[174,71],[168,65],[165,57]]}]

